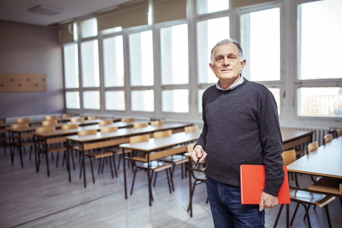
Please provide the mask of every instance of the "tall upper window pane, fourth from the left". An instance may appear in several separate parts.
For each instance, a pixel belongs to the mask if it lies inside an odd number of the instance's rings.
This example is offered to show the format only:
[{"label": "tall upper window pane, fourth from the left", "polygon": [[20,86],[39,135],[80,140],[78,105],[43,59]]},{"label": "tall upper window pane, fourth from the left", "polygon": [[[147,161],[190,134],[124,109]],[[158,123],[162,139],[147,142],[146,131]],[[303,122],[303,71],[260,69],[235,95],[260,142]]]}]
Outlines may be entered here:
[{"label": "tall upper window pane, fourth from the left", "polygon": [[153,85],[152,30],[129,35],[131,85]]}]

